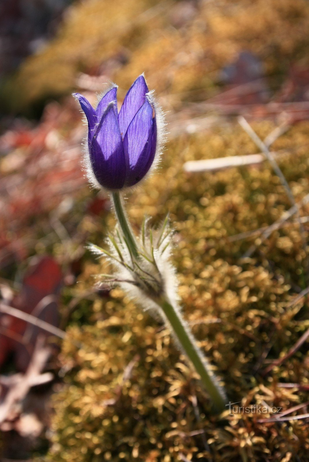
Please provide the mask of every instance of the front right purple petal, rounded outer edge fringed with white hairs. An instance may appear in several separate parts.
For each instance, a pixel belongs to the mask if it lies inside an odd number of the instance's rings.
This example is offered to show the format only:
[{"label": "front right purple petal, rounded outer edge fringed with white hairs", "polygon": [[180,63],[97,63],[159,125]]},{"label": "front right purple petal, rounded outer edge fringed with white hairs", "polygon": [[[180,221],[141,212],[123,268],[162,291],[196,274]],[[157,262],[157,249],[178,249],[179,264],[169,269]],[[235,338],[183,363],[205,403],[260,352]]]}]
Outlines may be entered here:
[{"label": "front right purple petal, rounded outer edge fringed with white hairs", "polygon": [[124,154],[129,164],[126,186],[133,186],[146,175],[154,161],[156,142],[154,108],[146,99],[124,136]]}]

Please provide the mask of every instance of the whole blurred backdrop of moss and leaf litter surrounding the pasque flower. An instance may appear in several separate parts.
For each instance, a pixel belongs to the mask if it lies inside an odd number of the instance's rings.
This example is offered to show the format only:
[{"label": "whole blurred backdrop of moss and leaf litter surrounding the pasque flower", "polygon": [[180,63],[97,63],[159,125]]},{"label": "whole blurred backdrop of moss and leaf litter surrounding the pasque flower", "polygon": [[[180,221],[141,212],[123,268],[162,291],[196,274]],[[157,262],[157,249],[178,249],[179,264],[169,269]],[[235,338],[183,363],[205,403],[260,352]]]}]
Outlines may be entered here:
[{"label": "whole blurred backdrop of moss and leaf litter surrounding the pasque flower", "polygon": [[145,73],[168,135],[128,198],[135,230],[170,212],[184,316],[231,401],[306,415],[308,30],[307,0],[1,0],[3,461],[309,460],[305,417],[210,417],[168,331],[94,285],[85,243],[115,223],[71,97],[113,81],[121,102]]}]

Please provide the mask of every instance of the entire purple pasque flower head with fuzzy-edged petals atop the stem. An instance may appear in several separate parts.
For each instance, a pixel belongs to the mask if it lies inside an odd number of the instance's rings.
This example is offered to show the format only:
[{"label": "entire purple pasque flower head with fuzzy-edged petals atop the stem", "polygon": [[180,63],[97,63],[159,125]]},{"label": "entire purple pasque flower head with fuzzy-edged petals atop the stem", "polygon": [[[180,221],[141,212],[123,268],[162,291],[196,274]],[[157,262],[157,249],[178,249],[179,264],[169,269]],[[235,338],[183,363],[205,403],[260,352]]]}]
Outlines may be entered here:
[{"label": "entire purple pasque flower head with fuzzy-edged petals atop the stem", "polygon": [[106,91],[97,109],[79,93],[73,96],[88,121],[89,179],[94,180],[94,176],[110,190],[141,181],[154,162],[158,145],[157,114],[144,76],[140,75],[127,92],[119,114],[116,85]]}]

